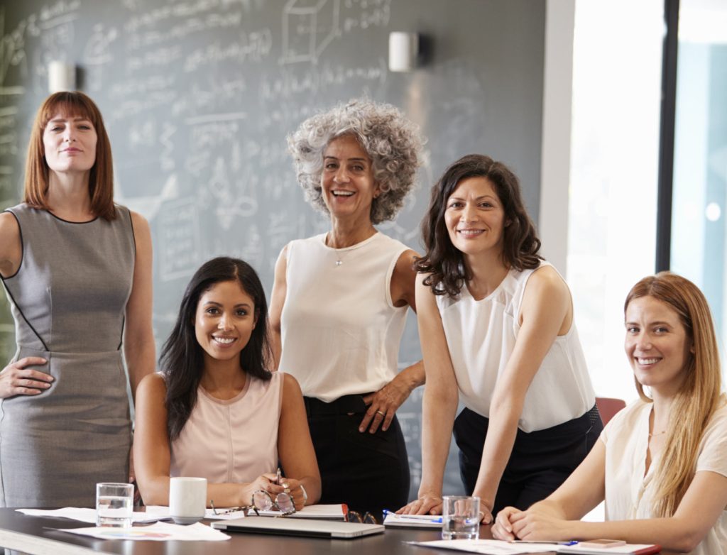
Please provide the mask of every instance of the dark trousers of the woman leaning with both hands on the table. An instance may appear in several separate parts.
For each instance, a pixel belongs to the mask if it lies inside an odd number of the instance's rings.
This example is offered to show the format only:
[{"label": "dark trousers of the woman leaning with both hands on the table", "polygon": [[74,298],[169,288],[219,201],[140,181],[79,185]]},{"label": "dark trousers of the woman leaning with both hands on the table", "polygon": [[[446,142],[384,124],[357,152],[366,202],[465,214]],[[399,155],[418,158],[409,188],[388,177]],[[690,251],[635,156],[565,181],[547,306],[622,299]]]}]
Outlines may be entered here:
[{"label": "dark trousers of the woman leaning with both hands on the table", "polygon": [[[468,495],[475,489],[489,419],[465,408],[454,421],[459,473]],[[595,445],[603,424],[595,406],[579,418],[526,433],[518,429],[495,496],[493,516],[506,507],[525,510],[566,481]]]}]

